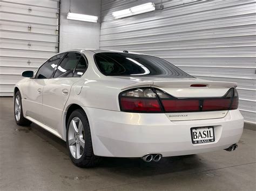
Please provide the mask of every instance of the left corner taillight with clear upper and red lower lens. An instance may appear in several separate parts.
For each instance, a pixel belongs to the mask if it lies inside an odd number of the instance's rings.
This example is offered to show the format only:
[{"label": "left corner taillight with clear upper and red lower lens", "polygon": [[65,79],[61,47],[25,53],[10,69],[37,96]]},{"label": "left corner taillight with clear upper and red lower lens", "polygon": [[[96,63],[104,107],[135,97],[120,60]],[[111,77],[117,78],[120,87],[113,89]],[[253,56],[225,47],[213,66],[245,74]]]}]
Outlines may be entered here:
[{"label": "left corner taillight with clear upper and red lower lens", "polygon": [[128,90],[120,94],[120,109],[132,112],[161,112],[157,95],[150,88]]}]

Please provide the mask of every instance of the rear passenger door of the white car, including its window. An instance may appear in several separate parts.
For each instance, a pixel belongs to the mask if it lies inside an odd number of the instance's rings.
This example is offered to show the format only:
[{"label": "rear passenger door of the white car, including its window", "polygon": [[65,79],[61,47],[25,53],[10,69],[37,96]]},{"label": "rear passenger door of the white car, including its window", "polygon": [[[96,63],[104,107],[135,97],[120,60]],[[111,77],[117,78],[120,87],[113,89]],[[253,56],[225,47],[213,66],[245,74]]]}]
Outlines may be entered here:
[{"label": "rear passenger door of the white car, including its window", "polygon": [[87,61],[78,52],[69,52],[60,62],[52,79],[45,82],[43,91],[44,124],[60,132],[63,110],[73,83],[80,79]]}]

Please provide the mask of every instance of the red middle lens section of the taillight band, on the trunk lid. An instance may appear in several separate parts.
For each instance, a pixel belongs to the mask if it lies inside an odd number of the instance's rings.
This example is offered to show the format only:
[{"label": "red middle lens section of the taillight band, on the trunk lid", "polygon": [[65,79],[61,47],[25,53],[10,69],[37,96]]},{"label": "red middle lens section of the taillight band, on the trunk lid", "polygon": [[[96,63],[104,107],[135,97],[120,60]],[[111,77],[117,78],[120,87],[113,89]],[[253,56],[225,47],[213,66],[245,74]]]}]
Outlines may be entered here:
[{"label": "red middle lens section of the taillight band, on the trunk lid", "polygon": [[199,100],[161,100],[167,112],[199,111]]}]

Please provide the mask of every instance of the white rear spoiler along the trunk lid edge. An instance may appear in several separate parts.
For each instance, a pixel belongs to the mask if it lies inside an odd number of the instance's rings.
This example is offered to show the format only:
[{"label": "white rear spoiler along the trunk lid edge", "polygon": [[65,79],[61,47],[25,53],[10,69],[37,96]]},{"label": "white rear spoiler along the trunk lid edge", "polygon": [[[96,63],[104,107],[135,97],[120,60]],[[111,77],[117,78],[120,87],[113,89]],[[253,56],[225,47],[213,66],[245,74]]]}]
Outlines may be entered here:
[{"label": "white rear spoiler along the trunk lid edge", "polygon": [[122,90],[139,87],[159,87],[159,88],[190,88],[192,84],[204,84],[208,88],[236,88],[235,82],[207,81],[207,80],[169,80],[169,81],[142,81],[125,86]]}]

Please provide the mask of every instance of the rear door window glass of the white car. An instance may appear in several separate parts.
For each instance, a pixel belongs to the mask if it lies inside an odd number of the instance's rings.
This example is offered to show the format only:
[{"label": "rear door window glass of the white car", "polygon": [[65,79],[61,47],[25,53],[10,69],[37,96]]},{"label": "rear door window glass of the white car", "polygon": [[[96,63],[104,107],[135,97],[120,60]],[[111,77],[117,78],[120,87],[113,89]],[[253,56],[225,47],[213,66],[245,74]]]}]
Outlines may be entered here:
[{"label": "rear door window glass of the white car", "polygon": [[75,52],[66,54],[53,77],[73,77],[73,73],[78,61],[80,60],[80,57],[81,55]]}]

